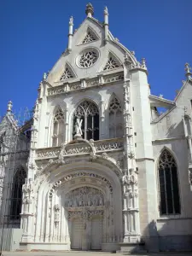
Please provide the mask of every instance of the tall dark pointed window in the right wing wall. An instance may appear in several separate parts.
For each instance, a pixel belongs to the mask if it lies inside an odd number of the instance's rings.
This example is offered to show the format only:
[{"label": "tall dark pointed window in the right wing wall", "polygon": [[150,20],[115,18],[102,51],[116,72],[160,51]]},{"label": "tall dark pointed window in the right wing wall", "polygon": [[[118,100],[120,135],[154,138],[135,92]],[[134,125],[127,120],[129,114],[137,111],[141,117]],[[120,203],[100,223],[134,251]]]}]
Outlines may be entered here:
[{"label": "tall dark pointed window in the right wing wall", "polygon": [[159,160],[160,215],[178,214],[180,199],[177,181],[177,164],[172,154],[163,150]]}]

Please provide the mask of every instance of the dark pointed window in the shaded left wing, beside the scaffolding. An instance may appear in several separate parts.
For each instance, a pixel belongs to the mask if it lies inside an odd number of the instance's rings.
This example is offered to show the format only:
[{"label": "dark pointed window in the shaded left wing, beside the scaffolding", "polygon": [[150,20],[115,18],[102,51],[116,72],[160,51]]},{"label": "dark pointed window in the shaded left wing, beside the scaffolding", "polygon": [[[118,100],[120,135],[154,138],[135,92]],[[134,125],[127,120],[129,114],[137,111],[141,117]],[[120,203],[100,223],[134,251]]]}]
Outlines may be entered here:
[{"label": "dark pointed window in the shaded left wing, beside the scaffolding", "polygon": [[11,191],[10,204],[10,219],[20,219],[20,212],[22,206],[22,186],[26,180],[26,171],[20,167],[15,173]]}]

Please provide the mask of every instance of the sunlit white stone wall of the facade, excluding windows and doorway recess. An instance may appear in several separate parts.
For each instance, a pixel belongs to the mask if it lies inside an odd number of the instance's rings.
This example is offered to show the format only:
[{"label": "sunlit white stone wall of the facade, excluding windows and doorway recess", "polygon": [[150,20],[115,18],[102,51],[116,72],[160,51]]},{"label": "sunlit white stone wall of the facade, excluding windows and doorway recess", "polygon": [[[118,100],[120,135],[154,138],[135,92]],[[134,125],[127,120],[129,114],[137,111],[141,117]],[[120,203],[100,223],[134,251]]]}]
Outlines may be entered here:
[{"label": "sunlit white stone wall of the facade, excluding windows and doorway recess", "polygon": [[[94,29],[97,40],[89,44],[81,44],[88,27]],[[69,28],[72,30],[72,22]],[[62,228],[66,230],[65,234],[60,234],[57,238],[49,238],[59,232],[54,226],[53,207],[55,204],[63,207],[59,195],[54,195],[54,202],[51,205],[49,191],[67,173],[72,174],[79,172],[79,170],[82,172],[86,170],[94,174],[100,173],[104,177],[108,177],[110,182],[113,183],[114,224],[111,227],[113,231],[110,231],[110,236],[122,235],[124,239],[126,236],[124,241],[130,242],[139,241],[141,235],[146,242],[148,250],[151,251],[158,250],[160,247],[168,247],[169,240],[167,237],[173,240],[174,236],[180,236],[178,244],[182,244],[183,236],[191,235],[189,227],[191,227],[192,218],[190,207],[192,196],[189,187],[188,148],[184,138],[182,116],[184,107],[187,107],[189,112],[191,111],[190,96],[192,95],[192,85],[187,84],[183,87],[180,95],[177,96],[175,107],[172,107],[168,113],[161,115],[158,119],[154,119],[157,116],[153,115],[154,121],[151,122],[150,90],[145,62],[142,61],[141,64],[136,61],[134,55],[119,44],[111,34],[108,34],[107,42],[104,28],[94,19],[87,18],[84,20],[79,30],[73,33],[73,37],[70,34],[70,38],[72,38],[72,44],[69,42],[70,50],[67,49],[61,55],[59,61],[55,63],[55,66],[50,71],[49,76],[44,78],[39,87],[36,112],[33,117],[33,137],[28,161],[28,180],[26,188],[24,188],[25,203],[22,209],[24,232],[22,242],[26,246],[27,242],[35,241],[37,243],[36,248],[43,248],[44,241],[61,242],[61,239],[58,238],[60,235],[62,238],[63,236],[69,236],[67,216],[65,216],[63,219],[60,218]],[[76,57],[87,48],[97,50],[98,60],[92,67],[79,68]],[[119,67],[110,71],[103,71],[103,67],[108,61],[108,55],[113,55],[115,60],[119,62]],[[73,79],[60,81],[66,65],[70,67]],[[103,77],[109,74],[115,76],[118,73],[123,73],[124,79],[108,84],[103,83]],[[86,84],[93,78],[98,79],[99,82],[96,86],[86,88]],[[79,83],[80,89],[68,91],[67,88],[73,82]],[[56,91],[58,88],[63,89],[60,94]],[[49,95],[50,90],[55,90],[52,96]],[[67,155],[70,160],[67,159],[66,162],[66,155],[61,154],[63,145],[61,151],[60,148],[57,148],[60,153],[56,153],[54,159],[48,159],[47,155],[42,160],[38,159],[37,149],[52,147],[53,117],[58,107],[63,110],[65,116],[65,132],[63,135],[65,144],[73,140],[73,113],[79,103],[84,100],[96,103],[100,115],[100,140],[108,139],[108,106],[113,95],[119,99],[124,116],[125,129],[124,137],[122,137],[124,149],[120,149],[122,150],[120,154],[124,158],[123,166],[117,166],[116,160],[110,159],[108,154],[105,154],[106,152],[104,154],[103,152],[100,154],[89,152],[89,155],[85,152],[84,156],[73,155],[72,158]],[[172,152],[177,162],[181,214],[162,218],[158,209],[157,163],[160,153],[165,147]],[[116,149],[114,148],[110,155],[115,154]],[[94,162],[96,159],[102,159],[100,164]],[[133,177],[136,177],[136,179],[138,177],[138,187],[137,182],[134,182],[134,184],[130,182],[131,172],[134,172]],[[86,183],[90,184],[90,181],[86,180]],[[72,189],[75,186],[77,188],[79,184],[82,185],[82,183],[76,183],[74,186],[74,183],[70,184],[71,187],[68,185],[68,189]],[[67,190],[64,191],[64,185],[63,188],[58,189],[57,193],[65,195]],[[99,188],[98,184],[97,188]],[[134,191],[130,191],[131,188],[134,188]],[[130,192],[134,193],[131,194]],[[127,195],[133,196],[134,200],[128,198]],[[126,200],[128,201],[127,206]],[[137,200],[139,201],[138,204]],[[131,205],[131,201],[134,201],[135,208]],[[128,207],[130,205],[131,207]],[[61,215],[64,217],[63,211],[62,208]],[[135,212],[132,213],[131,211]],[[126,229],[122,216],[124,216],[125,220],[133,219],[133,223],[135,221],[135,230]],[[184,227],[186,227],[186,230]],[[112,240],[112,242],[117,241]],[[66,243],[63,247],[61,246],[62,249],[70,248],[70,241],[66,237],[62,241]],[[184,242],[188,244],[188,241],[185,240]],[[42,243],[42,247],[40,243]]]}]

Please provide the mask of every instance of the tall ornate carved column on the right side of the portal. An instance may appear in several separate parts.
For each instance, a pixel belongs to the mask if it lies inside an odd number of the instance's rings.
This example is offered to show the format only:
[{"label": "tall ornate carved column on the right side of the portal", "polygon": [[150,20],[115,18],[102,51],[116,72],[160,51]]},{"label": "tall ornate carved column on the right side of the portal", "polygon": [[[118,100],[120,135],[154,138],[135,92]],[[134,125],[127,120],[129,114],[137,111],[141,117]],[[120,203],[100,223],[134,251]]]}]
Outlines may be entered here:
[{"label": "tall ornate carved column on the right side of the portal", "polygon": [[140,241],[140,224],[138,211],[138,188],[135,150],[133,147],[133,127],[131,109],[131,79],[128,73],[129,62],[125,61],[124,82],[124,177],[123,177],[123,215],[124,242]]}]

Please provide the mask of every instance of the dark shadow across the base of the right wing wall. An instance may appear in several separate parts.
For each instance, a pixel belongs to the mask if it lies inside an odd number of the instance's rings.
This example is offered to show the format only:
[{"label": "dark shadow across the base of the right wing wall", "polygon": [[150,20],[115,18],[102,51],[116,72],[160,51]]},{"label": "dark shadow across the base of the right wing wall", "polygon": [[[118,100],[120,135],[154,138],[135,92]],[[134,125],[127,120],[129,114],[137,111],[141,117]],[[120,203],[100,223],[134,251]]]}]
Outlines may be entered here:
[{"label": "dark shadow across the base of the right wing wall", "polygon": [[[170,235],[169,222],[173,220],[165,221],[166,223],[158,229],[157,223],[153,220],[143,231],[142,241],[145,243],[145,250],[152,253],[192,251],[192,235],[178,235],[177,233]],[[175,225],[177,226],[177,220]]]}]

